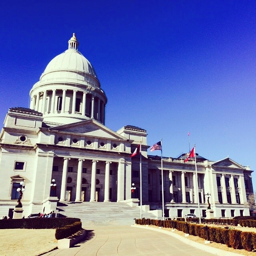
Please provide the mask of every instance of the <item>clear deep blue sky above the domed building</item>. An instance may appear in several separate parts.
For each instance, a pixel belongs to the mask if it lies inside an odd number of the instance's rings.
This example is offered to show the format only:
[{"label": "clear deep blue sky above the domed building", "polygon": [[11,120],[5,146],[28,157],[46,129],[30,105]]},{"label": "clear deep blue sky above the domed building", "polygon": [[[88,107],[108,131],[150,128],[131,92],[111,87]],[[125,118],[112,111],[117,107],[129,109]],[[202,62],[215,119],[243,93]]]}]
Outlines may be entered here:
[{"label": "clear deep blue sky above the domed building", "polygon": [[[75,32],[108,97],[106,126],[162,138],[163,155],[256,170],[256,1],[2,1],[0,120]],[[160,154],[160,151],[155,151]],[[256,189],[256,173],[253,174]]]}]

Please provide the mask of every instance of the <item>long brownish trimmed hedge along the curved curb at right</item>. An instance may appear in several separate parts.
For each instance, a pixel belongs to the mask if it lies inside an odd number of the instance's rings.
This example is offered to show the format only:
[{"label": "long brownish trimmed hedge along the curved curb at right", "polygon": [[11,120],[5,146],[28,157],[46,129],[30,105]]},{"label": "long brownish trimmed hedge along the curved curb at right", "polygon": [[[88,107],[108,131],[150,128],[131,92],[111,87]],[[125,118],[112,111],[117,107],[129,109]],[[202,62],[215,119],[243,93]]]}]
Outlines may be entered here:
[{"label": "long brownish trimmed hedge along the curved curb at right", "polygon": [[[256,222],[254,220],[251,221]],[[209,227],[179,220],[136,219],[135,223],[140,225],[149,225],[148,223],[150,223],[154,226],[176,228],[184,233],[199,236],[205,240],[208,238],[210,241],[226,244],[228,247],[232,247],[234,249],[245,249],[247,251],[256,249],[256,233],[254,232],[242,232],[234,228]]]}]

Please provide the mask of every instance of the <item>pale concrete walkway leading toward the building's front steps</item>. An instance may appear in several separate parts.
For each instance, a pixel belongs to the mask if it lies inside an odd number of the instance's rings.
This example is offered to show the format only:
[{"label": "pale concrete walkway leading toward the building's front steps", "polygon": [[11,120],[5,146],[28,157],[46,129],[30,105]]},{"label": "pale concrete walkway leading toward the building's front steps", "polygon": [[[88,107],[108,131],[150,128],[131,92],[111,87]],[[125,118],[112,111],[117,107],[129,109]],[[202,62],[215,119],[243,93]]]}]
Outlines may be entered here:
[{"label": "pale concrete walkway leading toward the building's front steps", "polygon": [[162,232],[131,226],[95,226],[85,241],[45,256],[212,256]]}]

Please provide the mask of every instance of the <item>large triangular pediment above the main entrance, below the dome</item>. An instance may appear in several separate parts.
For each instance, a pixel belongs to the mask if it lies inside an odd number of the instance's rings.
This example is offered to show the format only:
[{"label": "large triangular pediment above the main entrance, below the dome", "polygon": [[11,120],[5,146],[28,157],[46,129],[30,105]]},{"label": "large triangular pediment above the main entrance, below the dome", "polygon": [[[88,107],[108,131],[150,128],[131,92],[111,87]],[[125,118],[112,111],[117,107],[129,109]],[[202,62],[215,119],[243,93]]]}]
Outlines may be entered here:
[{"label": "large triangular pediment above the main entrance, below the dome", "polygon": [[96,120],[84,120],[73,124],[65,124],[62,126],[55,126],[49,128],[49,130],[56,130],[60,132],[67,132],[72,134],[83,134],[85,136],[93,136],[108,139],[127,140],[120,134],[110,130],[103,124],[100,124]]}]

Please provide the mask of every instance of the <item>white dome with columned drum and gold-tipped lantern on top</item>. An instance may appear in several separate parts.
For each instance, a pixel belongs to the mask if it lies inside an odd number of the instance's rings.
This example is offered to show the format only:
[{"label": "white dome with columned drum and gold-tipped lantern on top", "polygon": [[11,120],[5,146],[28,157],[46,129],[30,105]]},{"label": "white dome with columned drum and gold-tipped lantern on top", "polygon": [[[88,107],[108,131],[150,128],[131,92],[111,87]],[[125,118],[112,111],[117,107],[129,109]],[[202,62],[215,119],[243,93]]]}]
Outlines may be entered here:
[{"label": "white dome with columned drum and gold-tipped lantern on top", "polygon": [[94,68],[78,51],[75,34],[68,50],[46,66],[30,98],[30,108],[42,112],[46,121],[70,124],[93,118],[105,123],[106,95]]}]

